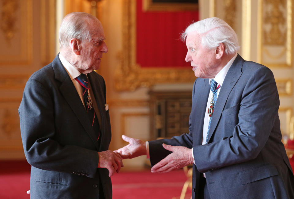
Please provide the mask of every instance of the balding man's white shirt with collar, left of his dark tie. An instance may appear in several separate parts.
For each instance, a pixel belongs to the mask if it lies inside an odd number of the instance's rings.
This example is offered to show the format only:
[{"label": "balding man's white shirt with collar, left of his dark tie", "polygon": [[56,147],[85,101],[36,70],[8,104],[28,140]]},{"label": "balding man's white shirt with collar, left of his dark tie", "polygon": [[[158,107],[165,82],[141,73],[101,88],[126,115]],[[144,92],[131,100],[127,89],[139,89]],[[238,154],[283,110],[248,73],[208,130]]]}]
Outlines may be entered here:
[{"label": "balding man's white shirt with collar, left of his dark tie", "polygon": [[80,71],[78,71],[73,65],[71,65],[60,53],[59,53],[59,59],[63,65],[63,67],[65,68],[67,74],[70,76],[70,79],[73,81],[74,87],[76,88],[77,93],[79,94],[81,101],[83,102],[83,105],[85,106],[83,88],[79,84],[79,82],[77,82],[77,80],[75,80],[76,77],[81,75]]}]

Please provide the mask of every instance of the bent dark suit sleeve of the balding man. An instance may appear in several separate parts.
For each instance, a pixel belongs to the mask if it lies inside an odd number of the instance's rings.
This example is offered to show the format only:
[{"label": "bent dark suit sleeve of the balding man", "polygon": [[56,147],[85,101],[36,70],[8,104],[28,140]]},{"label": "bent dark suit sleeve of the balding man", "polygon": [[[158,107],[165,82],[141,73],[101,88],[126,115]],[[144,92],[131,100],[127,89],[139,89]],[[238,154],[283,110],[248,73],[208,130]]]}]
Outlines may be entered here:
[{"label": "bent dark suit sleeve of the balding man", "polygon": [[[58,102],[53,100],[49,92],[51,90],[48,91],[34,79],[29,79],[25,86],[19,116],[28,163],[43,170],[66,173],[81,171],[93,178],[99,161],[97,151],[78,145],[62,145],[56,141],[62,139],[56,134],[58,129],[54,125],[54,103]],[[71,131],[64,133],[70,134]]]}]

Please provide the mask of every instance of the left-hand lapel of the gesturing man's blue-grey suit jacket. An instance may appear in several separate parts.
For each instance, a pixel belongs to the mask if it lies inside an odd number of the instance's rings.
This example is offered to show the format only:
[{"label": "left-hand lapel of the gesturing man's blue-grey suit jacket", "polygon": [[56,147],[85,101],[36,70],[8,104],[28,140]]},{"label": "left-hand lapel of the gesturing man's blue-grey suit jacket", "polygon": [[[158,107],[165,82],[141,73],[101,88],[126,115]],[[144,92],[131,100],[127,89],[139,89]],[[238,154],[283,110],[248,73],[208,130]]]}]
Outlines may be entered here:
[{"label": "left-hand lapel of the gesturing man's blue-grey suit jacket", "polygon": [[200,79],[202,81],[199,86],[197,86],[197,89],[195,90],[195,100],[193,100],[193,103],[195,103],[195,106],[192,110],[194,113],[194,121],[192,123],[194,124],[194,132],[199,132],[199,135],[195,135],[194,143],[195,145],[201,145],[202,143],[202,132],[203,132],[203,122],[204,122],[204,115],[206,113],[206,105],[207,100],[209,96],[209,79]]}]

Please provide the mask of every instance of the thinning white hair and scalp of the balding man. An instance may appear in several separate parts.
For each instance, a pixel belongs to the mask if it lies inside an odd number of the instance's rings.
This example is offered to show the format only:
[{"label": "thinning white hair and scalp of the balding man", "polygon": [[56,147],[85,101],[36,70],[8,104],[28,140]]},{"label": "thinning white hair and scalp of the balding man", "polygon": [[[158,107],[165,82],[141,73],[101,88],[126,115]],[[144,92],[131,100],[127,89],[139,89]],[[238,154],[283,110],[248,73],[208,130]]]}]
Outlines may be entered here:
[{"label": "thinning white hair and scalp of the balding man", "polygon": [[69,46],[70,40],[73,38],[83,40],[91,40],[87,19],[97,19],[89,13],[74,12],[67,14],[59,28],[59,44],[60,48]]}]

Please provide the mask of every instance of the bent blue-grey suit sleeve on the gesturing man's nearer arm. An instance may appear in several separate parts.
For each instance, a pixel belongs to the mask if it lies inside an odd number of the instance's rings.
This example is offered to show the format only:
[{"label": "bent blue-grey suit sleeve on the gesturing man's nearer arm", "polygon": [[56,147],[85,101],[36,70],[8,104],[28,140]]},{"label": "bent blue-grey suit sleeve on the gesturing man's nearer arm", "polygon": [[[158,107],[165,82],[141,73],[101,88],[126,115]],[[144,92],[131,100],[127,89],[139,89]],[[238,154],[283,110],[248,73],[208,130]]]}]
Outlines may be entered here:
[{"label": "bent blue-grey suit sleeve on the gesturing man's nearer arm", "polygon": [[230,122],[236,123],[233,135],[193,148],[197,169],[202,173],[254,159],[269,139],[279,107],[273,74],[268,68],[259,67],[243,75],[249,78],[240,88],[242,96],[236,96],[240,97],[240,104],[222,112],[226,113],[222,117],[230,117]]}]

